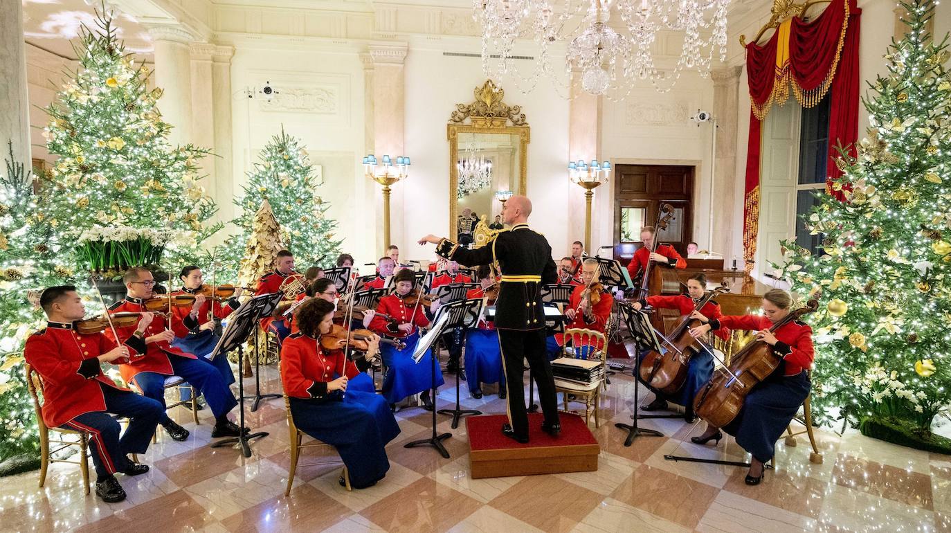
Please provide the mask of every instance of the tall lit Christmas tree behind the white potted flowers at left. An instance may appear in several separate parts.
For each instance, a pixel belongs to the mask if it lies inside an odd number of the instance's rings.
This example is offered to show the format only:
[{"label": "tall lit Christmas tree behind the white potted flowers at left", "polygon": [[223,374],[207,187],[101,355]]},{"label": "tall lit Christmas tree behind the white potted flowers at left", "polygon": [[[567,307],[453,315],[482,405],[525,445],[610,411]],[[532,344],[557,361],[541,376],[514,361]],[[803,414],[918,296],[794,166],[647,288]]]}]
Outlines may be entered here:
[{"label": "tall lit Christmas tree behind the white potted flowers at left", "polygon": [[146,88],[149,70],[125,53],[111,15],[97,11],[97,25],[82,29],[79,69],[46,109],[43,135],[59,156],[43,184],[49,224],[66,238],[94,227],[173,230],[178,253],[193,256],[219,228],[203,225],[216,207],[195,161],[208,150],[169,144],[162,89]]}]

